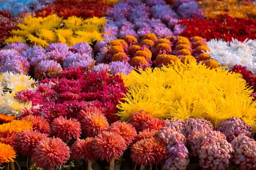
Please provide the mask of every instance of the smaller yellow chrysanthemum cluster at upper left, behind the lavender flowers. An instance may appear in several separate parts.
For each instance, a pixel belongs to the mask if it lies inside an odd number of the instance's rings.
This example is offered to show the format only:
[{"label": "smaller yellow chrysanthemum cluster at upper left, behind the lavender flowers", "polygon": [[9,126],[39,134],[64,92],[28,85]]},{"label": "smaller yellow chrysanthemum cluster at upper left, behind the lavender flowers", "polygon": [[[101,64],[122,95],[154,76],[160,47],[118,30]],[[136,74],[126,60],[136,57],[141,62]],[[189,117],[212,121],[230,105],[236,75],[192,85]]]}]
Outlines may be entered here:
[{"label": "smaller yellow chrysanthemum cluster at upper left, behind the lavender flowers", "polygon": [[66,20],[56,14],[42,17],[25,17],[23,23],[13,29],[13,37],[7,38],[4,42],[29,42],[38,46],[61,42],[72,46],[79,42],[93,43],[103,40],[100,30],[105,23],[105,18],[88,18],[83,20],[76,16],[70,16]]}]

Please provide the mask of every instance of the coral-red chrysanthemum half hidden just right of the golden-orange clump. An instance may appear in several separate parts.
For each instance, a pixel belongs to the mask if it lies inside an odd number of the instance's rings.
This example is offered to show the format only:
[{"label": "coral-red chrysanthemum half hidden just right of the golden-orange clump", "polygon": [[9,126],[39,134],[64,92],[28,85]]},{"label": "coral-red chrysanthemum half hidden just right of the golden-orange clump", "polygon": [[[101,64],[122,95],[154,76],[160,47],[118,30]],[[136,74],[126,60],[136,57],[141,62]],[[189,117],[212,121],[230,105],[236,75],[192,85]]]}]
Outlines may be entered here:
[{"label": "coral-red chrysanthemum half hidden just right of the golden-orange clump", "polygon": [[41,133],[49,134],[50,126],[48,122],[43,119],[43,117],[28,115],[27,117],[25,117],[25,119],[29,119],[29,121],[32,122],[34,130],[38,130]]}]

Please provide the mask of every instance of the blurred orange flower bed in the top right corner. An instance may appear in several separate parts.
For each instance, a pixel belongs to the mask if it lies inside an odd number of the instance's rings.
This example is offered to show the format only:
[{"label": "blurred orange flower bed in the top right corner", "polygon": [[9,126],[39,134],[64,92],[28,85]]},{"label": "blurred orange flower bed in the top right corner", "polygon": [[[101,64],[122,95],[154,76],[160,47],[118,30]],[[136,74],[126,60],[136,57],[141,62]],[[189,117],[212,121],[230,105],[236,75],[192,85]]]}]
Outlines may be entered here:
[{"label": "blurred orange flower bed in the top right corner", "polygon": [[233,18],[256,19],[256,4],[252,0],[202,0],[199,4],[206,18],[227,14]]}]

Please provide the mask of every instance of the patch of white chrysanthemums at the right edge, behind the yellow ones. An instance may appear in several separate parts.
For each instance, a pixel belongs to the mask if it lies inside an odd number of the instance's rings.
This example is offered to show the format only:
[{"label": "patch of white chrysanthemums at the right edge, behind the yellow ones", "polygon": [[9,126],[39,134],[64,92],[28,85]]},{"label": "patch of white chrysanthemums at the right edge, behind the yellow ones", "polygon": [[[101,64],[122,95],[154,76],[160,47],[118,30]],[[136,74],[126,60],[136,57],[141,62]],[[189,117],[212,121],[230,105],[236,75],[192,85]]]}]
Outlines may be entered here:
[{"label": "patch of white chrysanthemums at the right edge, behind the yellow ones", "polygon": [[210,52],[207,52],[220,66],[232,69],[235,64],[246,66],[256,73],[256,40],[240,42],[232,38],[231,42],[210,40],[207,42]]}]

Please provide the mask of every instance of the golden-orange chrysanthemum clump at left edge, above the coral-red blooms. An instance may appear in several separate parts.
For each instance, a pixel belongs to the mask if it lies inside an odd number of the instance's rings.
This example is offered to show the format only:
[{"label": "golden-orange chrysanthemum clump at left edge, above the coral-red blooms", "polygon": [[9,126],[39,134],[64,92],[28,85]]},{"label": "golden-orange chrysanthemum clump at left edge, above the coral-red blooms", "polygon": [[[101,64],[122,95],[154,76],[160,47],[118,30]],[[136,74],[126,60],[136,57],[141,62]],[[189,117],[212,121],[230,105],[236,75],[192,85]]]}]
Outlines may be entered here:
[{"label": "golden-orange chrysanthemum clump at left edge, above the coral-red blooms", "polygon": [[13,120],[10,123],[0,125],[0,134],[22,132],[23,130],[30,130],[33,124],[28,119]]}]

